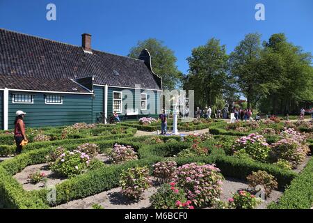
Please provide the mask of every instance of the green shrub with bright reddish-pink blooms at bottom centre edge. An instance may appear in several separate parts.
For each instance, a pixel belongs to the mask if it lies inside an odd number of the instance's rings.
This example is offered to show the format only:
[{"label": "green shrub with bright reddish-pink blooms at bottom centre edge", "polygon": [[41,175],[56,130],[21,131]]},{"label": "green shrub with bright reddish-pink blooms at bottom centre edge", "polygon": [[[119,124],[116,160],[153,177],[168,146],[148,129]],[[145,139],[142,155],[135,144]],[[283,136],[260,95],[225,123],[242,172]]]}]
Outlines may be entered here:
[{"label": "green shrub with bright reddish-pink blooms at bottom centre edge", "polygon": [[[177,201],[179,202],[177,203]],[[155,209],[178,209],[186,201],[186,194],[183,190],[179,190],[175,183],[161,185],[157,193],[150,197],[152,207]]]}]

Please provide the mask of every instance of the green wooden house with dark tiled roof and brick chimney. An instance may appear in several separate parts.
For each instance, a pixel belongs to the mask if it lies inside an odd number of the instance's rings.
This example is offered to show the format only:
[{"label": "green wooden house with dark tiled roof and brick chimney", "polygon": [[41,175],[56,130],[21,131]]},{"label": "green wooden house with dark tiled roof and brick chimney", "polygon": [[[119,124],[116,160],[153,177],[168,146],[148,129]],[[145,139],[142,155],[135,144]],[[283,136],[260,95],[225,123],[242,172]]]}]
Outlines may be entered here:
[{"label": "green wooden house with dark tiled roof and brick chimney", "polygon": [[157,116],[161,90],[147,49],[132,59],[92,49],[90,34],[74,46],[0,29],[2,130],[17,110],[28,127]]}]

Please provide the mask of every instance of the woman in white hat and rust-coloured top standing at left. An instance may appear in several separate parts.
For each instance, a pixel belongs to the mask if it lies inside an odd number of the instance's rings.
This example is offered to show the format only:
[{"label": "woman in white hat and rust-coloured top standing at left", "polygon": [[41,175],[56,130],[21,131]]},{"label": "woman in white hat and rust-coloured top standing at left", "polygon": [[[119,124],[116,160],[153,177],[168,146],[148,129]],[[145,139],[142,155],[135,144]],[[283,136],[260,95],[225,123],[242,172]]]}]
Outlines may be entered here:
[{"label": "woman in white hat and rust-coloured top standing at left", "polygon": [[23,118],[25,116],[26,112],[23,111],[17,111],[16,117],[14,121],[14,139],[16,142],[16,153],[22,153],[22,147],[21,142],[24,140],[27,140],[26,134],[25,134],[25,123],[23,121]]}]

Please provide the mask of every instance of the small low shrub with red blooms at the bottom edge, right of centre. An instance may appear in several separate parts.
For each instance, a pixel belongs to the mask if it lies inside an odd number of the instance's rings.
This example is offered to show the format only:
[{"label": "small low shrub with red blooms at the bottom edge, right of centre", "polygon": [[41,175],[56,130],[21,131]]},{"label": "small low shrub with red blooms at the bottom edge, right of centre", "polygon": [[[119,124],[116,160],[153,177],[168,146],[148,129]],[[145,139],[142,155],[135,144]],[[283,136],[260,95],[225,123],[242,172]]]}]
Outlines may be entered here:
[{"label": "small low shrub with red blooms at the bottom edge, right of centre", "polygon": [[233,194],[232,198],[228,199],[229,207],[234,209],[254,209],[262,201],[256,198],[255,195],[246,191],[239,191]]}]

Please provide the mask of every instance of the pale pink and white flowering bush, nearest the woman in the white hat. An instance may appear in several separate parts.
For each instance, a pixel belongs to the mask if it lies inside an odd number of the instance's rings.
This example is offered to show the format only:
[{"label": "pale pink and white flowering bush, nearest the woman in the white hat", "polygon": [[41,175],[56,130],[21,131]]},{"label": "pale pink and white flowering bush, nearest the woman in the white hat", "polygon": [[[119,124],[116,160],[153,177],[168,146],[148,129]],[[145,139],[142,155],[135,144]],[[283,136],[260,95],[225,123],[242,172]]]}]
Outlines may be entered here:
[{"label": "pale pink and white flowering bush, nearest the woman in the white hat", "polygon": [[51,170],[63,176],[73,177],[82,174],[88,168],[90,157],[81,151],[65,151],[51,165]]}]

